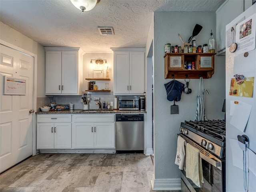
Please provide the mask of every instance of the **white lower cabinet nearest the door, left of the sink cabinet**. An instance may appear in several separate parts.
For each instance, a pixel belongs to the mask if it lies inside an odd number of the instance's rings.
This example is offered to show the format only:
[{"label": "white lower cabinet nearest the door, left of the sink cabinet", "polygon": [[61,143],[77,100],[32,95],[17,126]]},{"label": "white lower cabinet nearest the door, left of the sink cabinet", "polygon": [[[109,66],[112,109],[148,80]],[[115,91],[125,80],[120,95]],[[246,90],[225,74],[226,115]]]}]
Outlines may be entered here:
[{"label": "white lower cabinet nearest the door, left of the sink cabinet", "polygon": [[37,115],[37,149],[71,148],[71,115]]}]

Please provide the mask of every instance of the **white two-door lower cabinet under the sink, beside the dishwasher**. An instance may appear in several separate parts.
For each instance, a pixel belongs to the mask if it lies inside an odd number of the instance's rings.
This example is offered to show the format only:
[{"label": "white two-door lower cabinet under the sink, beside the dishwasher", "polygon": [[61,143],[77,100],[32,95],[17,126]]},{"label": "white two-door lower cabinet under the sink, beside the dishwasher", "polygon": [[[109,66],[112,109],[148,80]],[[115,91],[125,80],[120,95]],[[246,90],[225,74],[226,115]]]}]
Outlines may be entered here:
[{"label": "white two-door lower cabinet under the sink, beside the dishwasher", "polygon": [[72,148],[115,148],[114,114],[73,115]]}]

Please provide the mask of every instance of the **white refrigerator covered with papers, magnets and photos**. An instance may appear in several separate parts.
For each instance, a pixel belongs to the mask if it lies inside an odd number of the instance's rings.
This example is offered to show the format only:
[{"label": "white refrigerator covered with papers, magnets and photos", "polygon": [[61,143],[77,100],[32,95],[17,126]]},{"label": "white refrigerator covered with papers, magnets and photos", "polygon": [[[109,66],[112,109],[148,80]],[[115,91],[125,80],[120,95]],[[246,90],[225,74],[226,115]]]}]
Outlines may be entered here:
[{"label": "white refrigerator covered with papers, magnets and photos", "polygon": [[256,4],[226,25],[226,192],[256,192],[255,28]]}]

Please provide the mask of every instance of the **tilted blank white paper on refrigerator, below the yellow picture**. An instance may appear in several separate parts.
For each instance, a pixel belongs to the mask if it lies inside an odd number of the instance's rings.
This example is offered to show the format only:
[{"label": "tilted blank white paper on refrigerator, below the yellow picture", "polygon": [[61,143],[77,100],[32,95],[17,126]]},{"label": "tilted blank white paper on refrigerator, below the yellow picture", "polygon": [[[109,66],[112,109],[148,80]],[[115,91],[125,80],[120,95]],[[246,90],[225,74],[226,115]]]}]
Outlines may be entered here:
[{"label": "tilted blank white paper on refrigerator, below the yellow picture", "polygon": [[230,103],[230,110],[234,108],[233,114],[230,120],[230,124],[236,127],[238,130],[244,132],[248,119],[250,117],[250,113],[252,110],[252,105],[242,102],[240,100],[236,100],[236,104]]}]

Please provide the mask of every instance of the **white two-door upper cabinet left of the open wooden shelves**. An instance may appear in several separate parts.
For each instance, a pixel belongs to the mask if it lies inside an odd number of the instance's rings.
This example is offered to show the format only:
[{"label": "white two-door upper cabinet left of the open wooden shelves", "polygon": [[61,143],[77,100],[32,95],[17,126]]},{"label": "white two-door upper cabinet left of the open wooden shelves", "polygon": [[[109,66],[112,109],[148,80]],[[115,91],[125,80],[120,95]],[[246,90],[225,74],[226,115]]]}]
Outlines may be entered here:
[{"label": "white two-door upper cabinet left of the open wooden shelves", "polygon": [[79,48],[45,47],[46,95],[80,95]]}]

